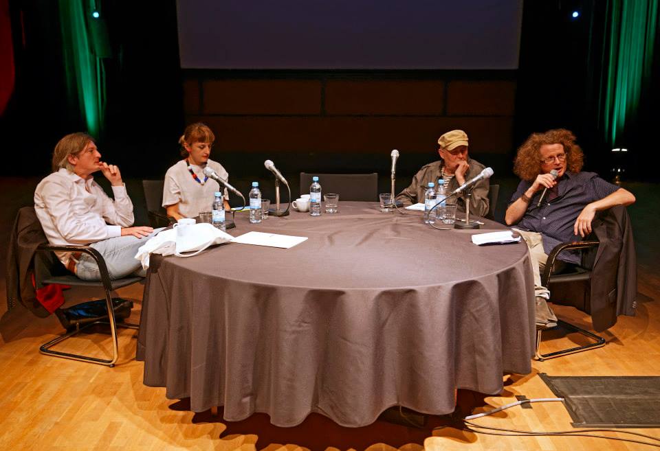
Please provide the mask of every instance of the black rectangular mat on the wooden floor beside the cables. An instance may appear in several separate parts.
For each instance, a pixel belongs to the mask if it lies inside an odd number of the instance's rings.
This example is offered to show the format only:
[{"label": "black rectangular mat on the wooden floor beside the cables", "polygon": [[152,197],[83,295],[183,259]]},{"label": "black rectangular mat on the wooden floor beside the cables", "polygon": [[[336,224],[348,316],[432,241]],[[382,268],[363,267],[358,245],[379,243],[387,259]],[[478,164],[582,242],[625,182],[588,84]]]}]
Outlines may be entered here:
[{"label": "black rectangular mat on the wooden floor beside the cables", "polygon": [[658,376],[549,376],[576,428],[660,428]]}]

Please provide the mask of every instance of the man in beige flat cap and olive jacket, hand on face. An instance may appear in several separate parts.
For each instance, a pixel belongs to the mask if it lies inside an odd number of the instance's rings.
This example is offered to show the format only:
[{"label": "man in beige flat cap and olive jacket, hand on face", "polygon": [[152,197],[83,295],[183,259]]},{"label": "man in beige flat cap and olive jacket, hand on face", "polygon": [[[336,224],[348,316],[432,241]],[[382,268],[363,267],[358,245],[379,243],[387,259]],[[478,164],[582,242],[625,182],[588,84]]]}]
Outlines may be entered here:
[{"label": "man in beige flat cap and olive jacket, hand on face", "polygon": [[[429,182],[437,186],[442,178],[448,192],[452,192],[485,169],[483,164],[467,156],[467,135],[463,130],[446,132],[438,139],[438,145],[439,161],[423,166],[412,178],[410,186],[397,196],[396,200],[404,206],[423,203]],[[472,187],[470,213],[485,216],[488,212],[488,188],[487,178]],[[464,195],[459,196],[456,203],[464,210]]]}]

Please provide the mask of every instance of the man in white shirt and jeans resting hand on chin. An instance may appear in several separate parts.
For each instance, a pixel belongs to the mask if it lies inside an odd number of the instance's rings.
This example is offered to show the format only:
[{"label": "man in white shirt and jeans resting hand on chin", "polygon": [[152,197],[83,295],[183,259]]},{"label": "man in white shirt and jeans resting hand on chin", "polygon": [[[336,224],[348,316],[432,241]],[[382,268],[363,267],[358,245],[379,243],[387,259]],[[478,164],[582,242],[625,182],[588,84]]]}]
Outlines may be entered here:
[{"label": "man in white shirt and jeans resting hand on chin", "polygon": [[[63,137],[53,152],[53,173],[34,191],[34,209],[50,244],[89,244],[103,255],[111,279],[140,274],[137,248],[153,235],[151,227],[131,227],[133,203],[119,168],[100,161],[96,143],[85,133]],[[94,182],[101,171],[110,181],[114,200]],[[58,253],[80,279],[100,280],[94,259],[80,253]],[[143,275],[143,274],[142,274]]]}]

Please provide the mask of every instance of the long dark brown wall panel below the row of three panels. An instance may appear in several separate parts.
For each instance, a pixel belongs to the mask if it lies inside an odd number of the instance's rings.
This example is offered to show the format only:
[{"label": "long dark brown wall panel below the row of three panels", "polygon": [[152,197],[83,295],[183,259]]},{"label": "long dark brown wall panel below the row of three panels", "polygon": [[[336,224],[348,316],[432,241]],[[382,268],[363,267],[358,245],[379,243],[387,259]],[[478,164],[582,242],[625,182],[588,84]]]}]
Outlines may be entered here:
[{"label": "long dark brown wall panel below the row of three panels", "polygon": [[228,152],[381,153],[393,148],[434,152],[452,128],[470,136],[473,153],[507,154],[511,117],[263,117],[190,116],[214,130],[215,148]]}]

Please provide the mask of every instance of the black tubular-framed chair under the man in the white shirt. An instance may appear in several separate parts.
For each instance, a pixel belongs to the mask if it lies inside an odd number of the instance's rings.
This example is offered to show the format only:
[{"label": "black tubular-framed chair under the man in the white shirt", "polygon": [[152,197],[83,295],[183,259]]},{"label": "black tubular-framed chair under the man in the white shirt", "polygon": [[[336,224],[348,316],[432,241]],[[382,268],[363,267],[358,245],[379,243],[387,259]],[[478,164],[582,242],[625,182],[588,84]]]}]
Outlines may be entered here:
[{"label": "black tubular-framed chair under the man in the white shirt", "polygon": [[[131,301],[125,301],[124,299],[113,299],[111,293],[118,288],[142,281],[142,277],[124,277],[122,279],[111,280],[105,260],[96,249],[91,248],[90,246],[53,246],[48,244],[45,235],[43,234],[43,229],[41,229],[39,219],[36,217],[34,207],[23,207],[19,209],[17,224],[22,224],[23,227],[18,228],[17,233],[15,233],[16,236],[12,237],[12,243],[18,243],[23,249],[34,248],[36,242],[40,243],[36,245],[36,251],[32,258],[32,265],[30,265],[29,268],[29,270],[34,270],[36,266],[39,266],[39,270],[34,272],[36,276],[36,284],[98,287],[104,290],[105,295],[104,301],[90,301],[75,305],[70,309],[56,310],[55,313],[58,316],[58,319],[63,323],[63,326],[67,329],[67,332],[41,345],[39,351],[48,356],[69,358],[72,360],[80,360],[82,362],[91,362],[113,367],[118,359],[117,328],[127,327],[137,329],[138,326],[121,322],[122,319],[129,316],[133,303]],[[90,255],[96,264],[98,264],[101,281],[88,282],[78,279],[78,277],[66,270],[61,262],[54,256],[55,251],[80,252]],[[10,264],[10,262],[8,262],[8,264]],[[29,279],[28,277],[21,278],[24,281],[25,279]],[[22,301],[25,302],[25,300]],[[97,314],[96,312],[99,310],[100,314]],[[97,358],[51,349],[54,345],[67,340],[67,338],[71,338],[72,336],[83,332],[83,330],[87,330],[98,324],[110,326],[112,340],[111,358]]]}]

